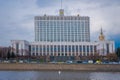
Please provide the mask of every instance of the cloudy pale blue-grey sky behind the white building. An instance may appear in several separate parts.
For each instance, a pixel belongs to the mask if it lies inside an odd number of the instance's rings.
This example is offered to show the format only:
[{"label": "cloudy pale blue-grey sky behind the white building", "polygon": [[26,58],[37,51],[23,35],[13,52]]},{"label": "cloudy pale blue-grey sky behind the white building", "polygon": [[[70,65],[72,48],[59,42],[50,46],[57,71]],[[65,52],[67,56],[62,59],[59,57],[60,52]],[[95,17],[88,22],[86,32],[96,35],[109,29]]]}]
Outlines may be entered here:
[{"label": "cloudy pale blue-grey sky behind the white building", "polygon": [[[59,15],[60,0],[0,0],[0,46],[10,40],[34,41],[34,16]],[[120,0],[63,0],[65,15],[90,17],[91,41],[100,28],[108,40],[120,46]]]}]

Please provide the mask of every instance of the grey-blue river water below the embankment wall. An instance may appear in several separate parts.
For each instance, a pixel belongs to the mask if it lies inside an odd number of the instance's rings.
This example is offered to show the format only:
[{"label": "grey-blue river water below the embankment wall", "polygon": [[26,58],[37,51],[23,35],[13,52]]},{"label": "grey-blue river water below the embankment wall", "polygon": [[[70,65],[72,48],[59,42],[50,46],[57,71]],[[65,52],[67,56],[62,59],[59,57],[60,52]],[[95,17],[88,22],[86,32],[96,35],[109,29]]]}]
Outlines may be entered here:
[{"label": "grey-blue river water below the embankment wall", "polygon": [[0,71],[0,80],[120,80],[120,72]]}]

